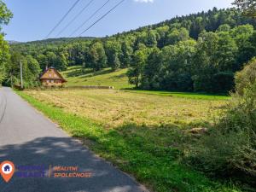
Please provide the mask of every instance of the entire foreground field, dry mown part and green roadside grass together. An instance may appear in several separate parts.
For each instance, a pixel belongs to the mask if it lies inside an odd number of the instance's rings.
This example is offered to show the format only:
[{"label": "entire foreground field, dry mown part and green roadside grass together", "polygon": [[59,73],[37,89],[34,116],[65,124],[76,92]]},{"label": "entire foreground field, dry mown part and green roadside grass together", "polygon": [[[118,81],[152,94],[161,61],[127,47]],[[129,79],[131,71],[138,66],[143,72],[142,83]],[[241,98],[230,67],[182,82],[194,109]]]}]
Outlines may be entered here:
[{"label": "entire foreground field, dry mown part and green roadside grass together", "polygon": [[228,100],[122,90],[30,90],[18,94],[153,191],[240,191],[183,162],[197,140],[189,129],[211,125],[212,115]]}]

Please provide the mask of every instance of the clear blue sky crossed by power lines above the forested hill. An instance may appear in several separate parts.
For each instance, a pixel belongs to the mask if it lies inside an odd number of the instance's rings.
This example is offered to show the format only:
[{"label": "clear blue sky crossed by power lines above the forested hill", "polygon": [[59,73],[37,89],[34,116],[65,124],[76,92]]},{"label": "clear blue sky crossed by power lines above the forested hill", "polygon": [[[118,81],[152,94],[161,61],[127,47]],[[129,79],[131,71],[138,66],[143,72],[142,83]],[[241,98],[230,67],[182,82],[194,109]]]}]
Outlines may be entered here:
[{"label": "clear blue sky crossed by power lines above the forested hill", "polygon": [[[44,39],[61,17],[71,8],[75,0],[3,0],[14,13],[14,18],[9,26],[4,26],[7,33],[6,39],[20,42]],[[90,0],[80,0],[67,19],[63,21],[56,31],[50,36],[55,38],[57,33],[79,13]],[[96,9],[106,0],[94,0],[88,9],[61,34],[68,37],[75,28],[88,19]],[[95,20],[111,9],[119,0],[110,0],[84,27],[90,26]],[[176,15],[189,15],[202,10],[231,7],[233,0],[125,0],[118,9],[101,20],[83,36],[104,37],[117,32],[129,31],[139,26],[154,24],[162,20],[171,19]],[[78,36],[81,29],[75,36]]]}]

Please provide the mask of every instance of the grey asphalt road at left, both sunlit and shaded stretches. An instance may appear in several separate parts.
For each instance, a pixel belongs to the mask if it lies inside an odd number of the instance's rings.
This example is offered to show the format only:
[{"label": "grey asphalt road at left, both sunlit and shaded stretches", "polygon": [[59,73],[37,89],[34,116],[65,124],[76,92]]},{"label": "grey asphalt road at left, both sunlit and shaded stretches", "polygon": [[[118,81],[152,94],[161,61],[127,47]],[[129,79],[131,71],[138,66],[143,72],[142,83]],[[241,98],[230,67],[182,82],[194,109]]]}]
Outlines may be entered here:
[{"label": "grey asphalt road at left, both sunlit and shaded stretches", "polygon": [[[38,113],[9,88],[0,89],[0,162],[11,160],[15,167],[44,166],[45,177],[14,177],[0,191],[9,192],[128,192],[145,191],[131,177],[97,158],[77,140]],[[53,177],[54,166],[78,166],[89,178]],[[51,171],[49,172],[49,167]],[[37,169],[36,169],[37,170]],[[58,172],[60,173],[60,172]],[[49,177],[50,174],[50,177]]]}]

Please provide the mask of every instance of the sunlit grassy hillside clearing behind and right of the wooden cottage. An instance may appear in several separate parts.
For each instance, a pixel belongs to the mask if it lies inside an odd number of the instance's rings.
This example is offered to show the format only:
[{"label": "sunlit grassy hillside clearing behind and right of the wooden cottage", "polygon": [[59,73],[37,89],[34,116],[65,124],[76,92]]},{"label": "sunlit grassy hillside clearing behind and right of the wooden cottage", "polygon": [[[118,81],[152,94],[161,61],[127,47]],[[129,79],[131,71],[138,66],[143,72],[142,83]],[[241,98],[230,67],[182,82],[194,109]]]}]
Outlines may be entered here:
[{"label": "sunlit grassy hillside clearing behind and right of the wooden cottage", "polygon": [[92,69],[83,69],[80,66],[68,67],[67,71],[62,72],[63,77],[67,79],[67,86],[79,85],[102,85],[113,86],[115,89],[132,88],[128,84],[126,76],[127,69],[112,72],[110,68],[103,69],[100,72],[93,72]]}]

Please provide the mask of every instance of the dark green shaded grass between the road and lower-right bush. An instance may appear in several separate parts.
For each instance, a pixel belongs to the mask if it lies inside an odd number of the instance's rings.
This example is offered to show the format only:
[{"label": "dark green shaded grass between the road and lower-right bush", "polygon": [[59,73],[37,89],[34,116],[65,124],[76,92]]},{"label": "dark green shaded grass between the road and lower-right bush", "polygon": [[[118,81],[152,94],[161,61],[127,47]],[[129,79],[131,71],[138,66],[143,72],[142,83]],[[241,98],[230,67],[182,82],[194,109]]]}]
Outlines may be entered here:
[{"label": "dark green shaded grass between the road and lower-right bush", "polygon": [[207,177],[183,165],[183,149],[195,143],[194,138],[184,134],[186,131],[177,125],[127,123],[102,131],[100,139],[82,131],[74,131],[73,135],[90,137],[93,141],[84,139],[86,145],[96,148],[125,172],[133,172],[155,191],[200,191],[201,186],[211,191],[214,184]]}]

